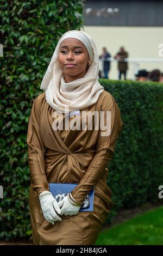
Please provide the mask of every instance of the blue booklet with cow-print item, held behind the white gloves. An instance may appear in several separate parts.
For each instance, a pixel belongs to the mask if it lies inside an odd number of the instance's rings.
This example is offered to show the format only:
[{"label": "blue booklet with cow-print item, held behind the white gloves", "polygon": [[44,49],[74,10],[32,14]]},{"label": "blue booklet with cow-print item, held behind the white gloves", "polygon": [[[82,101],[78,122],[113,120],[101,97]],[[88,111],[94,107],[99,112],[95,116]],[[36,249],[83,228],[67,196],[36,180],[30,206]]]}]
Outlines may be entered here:
[{"label": "blue booklet with cow-print item, held behind the white gloves", "polygon": [[[49,183],[49,190],[52,192],[53,197],[57,202],[60,202],[64,197],[67,196],[78,184],[74,183]],[[93,211],[95,186],[92,190],[87,193],[83,204],[79,211]]]}]

